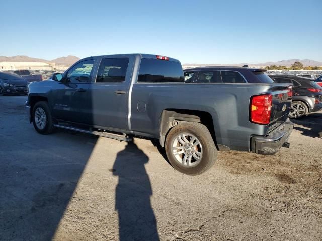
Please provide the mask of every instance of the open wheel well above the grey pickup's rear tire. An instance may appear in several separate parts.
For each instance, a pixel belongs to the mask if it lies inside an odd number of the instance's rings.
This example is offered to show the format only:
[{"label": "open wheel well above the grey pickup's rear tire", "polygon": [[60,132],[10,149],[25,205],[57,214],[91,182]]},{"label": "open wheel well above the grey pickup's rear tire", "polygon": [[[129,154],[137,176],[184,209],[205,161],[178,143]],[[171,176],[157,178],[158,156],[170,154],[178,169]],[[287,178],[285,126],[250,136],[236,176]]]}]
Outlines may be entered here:
[{"label": "open wheel well above the grey pickup's rear tire", "polygon": [[211,114],[205,111],[187,109],[164,109],[162,111],[160,118],[160,144],[162,147],[165,146],[168,132],[174,126],[183,122],[198,122],[205,125],[212,136],[216,149],[219,150]]}]

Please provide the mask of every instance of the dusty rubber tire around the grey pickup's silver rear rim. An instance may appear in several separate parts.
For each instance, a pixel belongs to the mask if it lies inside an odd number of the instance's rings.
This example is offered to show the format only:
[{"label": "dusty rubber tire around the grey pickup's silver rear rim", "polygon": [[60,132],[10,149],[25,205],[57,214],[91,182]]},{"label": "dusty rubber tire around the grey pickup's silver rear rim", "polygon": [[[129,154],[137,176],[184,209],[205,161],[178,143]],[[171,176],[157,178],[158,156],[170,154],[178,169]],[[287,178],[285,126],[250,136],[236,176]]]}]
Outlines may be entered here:
[{"label": "dusty rubber tire around the grey pickup's silver rear rim", "polygon": [[[191,167],[184,166],[184,164],[182,164],[182,162],[184,161],[182,161],[181,163],[180,161],[178,161],[178,158],[179,159],[182,158],[182,160],[184,159],[183,158],[184,154],[180,154],[181,156],[176,154],[177,157],[174,154],[173,149],[174,149],[174,145],[176,145],[175,142],[177,142],[177,145],[179,144],[178,146],[182,145],[180,146],[181,150],[186,150],[183,148],[183,144],[180,143],[179,139],[177,138],[179,135],[182,135],[182,134],[191,134],[192,136],[197,138],[197,140],[201,144],[200,153],[202,153],[202,156],[199,159],[199,163],[197,161],[196,162],[197,164],[195,164],[195,166],[191,166]],[[189,138],[189,135],[187,135],[187,137]],[[177,148],[177,146],[175,148]],[[190,150],[194,150],[192,146],[190,148],[192,148]],[[168,160],[171,163],[171,165],[179,172],[182,172],[187,175],[202,174],[208,169],[210,169],[215,163],[215,161],[217,160],[217,149],[209,130],[207,129],[206,126],[196,122],[185,122],[173,127],[167,135],[165,149],[166,149]]]}]

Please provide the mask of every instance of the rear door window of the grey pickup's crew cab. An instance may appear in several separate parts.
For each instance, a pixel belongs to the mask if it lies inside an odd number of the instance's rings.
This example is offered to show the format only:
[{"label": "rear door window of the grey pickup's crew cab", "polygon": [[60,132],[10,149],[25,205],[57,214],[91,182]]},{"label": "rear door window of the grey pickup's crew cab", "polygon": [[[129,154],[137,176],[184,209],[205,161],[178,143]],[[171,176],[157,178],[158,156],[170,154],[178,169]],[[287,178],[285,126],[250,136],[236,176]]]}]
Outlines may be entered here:
[{"label": "rear door window of the grey pickup's crew cab", "polygon": [[96,76],[97,83],[118,83],[124,82],[128,58],[102,59]]}]

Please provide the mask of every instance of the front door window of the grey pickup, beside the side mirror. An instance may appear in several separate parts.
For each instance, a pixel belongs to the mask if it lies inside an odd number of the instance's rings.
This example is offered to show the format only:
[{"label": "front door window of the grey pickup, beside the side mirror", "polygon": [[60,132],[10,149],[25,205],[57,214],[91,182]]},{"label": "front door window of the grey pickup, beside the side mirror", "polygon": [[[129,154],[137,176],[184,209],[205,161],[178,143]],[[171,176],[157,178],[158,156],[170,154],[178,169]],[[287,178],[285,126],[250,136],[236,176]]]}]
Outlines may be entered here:
[{"label": "front door window of the grey pickup, beside the side mirror", "polygon": [[93,70],[94,60],[85,60],[73,66],[67,72],[69,83],[89,83],[91,82],[91,73]]}]

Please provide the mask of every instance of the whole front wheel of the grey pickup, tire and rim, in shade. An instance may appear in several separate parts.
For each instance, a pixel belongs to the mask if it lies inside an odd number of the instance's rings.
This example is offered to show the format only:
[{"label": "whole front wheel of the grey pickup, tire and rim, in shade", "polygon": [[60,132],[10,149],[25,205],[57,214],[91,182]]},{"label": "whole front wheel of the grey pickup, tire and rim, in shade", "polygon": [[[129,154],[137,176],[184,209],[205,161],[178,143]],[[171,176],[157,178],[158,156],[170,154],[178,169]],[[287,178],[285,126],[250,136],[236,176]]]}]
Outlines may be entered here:
[{"label": "whole front wheel of the grey pickup, tire and rim, in shade", "polygon": [[32,111],[32,121],[38,133],[50,134],[53,132],[54,123],[47,102],[40,101],[34,105]]}]

